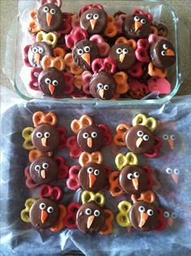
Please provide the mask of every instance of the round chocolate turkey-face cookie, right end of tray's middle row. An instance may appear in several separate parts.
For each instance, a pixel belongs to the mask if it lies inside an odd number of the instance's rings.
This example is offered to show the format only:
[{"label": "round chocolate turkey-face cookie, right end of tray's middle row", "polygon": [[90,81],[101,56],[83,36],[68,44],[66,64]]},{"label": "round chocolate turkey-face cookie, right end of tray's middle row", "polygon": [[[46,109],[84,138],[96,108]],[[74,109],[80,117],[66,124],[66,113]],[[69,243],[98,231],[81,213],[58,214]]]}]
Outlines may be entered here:
[{"label": "round chocolate turkey-face cookie, right end of tray's middle row", "polygon": [[129,165],[120,171],[119,184],[129,194],[140,194],[148,189],[148,177],[142,167]]}]

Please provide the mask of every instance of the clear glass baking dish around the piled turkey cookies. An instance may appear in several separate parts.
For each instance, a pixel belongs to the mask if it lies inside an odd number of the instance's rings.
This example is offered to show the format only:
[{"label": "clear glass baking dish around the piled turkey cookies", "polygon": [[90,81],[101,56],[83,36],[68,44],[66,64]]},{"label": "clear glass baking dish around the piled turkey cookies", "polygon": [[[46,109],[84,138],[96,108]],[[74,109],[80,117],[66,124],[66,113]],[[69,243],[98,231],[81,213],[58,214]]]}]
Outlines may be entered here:
[{"label": "clear glass baking dish around the piled turkey cookies", "polygon": [[[42,93],[36,93],[36,91],[28,90],[27,87],[23,84],[23,80],[20,77],[20,71],[23,67],[23,58],[22,58],[22,51],[23,47],[32,43],[32,39],[27,32],[27,19],[28,13],[32,9],[36,9],[38,7],[37,1],[19,1],[22,2],[22,6],[25,4],[26,8],[23,9],[23,12],[19,13],[18,20],[16,22],[15,28],[15,40],[10,40],[9,44],[11,45],[11,50],[8,47],[8,54],[10,51],[15,50],[15,53],[11,52],[11,58],[15,59],[15,62],[6,63],[6,71],[8,70],[8,76],[11,78],[11,82],[15,88],[15,91],[26,100],[31,100],[32,98],[38,99],[45,99],[42,96]],[[178,41],[178,17],[176,12],[172,10],[172,7],[167,2],[161,1],[64,1],[62,4],[62,11],[65,12],[79,12],[80,8],[83,7],[84,4],[93,4],[99,2],[104,6],[104,9],[108,12],[108,15],[114,14],[117,11],[124,11],[126,13],[131,13],[135,8],[141,8],[145,11],[152,11],[154,10],[154,20],[161,21],[164,24],[168,24],[168,40],[172,41],[172,44],[176,50],[176,64],[172,67],[168,68],[168,80],[172,85],[172,92],[165,95],[163,98],[155,98],[155,99],[142,99],[142,100],[135,100],[135,99],[118,99],[115,101],[110,101],[110,104],[142,104],[142,103],[163,103],[169,101],[178,91],[181,83],[181,76],[180,76],[180,57],[179,57],[179,41]],[[158,10],[158,11],[157,11]],[[157,12],[159,12],[157,14]],[[153,14],[153,13],[152,13]],[[25,18],[27,17],[27,18]],[[155,19],[156,18],[156,19]],[[26,27],[22,28],[21,20],[26,20]],[[8,37],[9,39],[13,39],[13,34]],[[24,41],[24,44],[23,44]],[[26,42],[28,42],[26,44]],[[14,46],[15,44],[15,46]],[[7,67],[8,65],[8,67]],[[55,99],[53,99],[55,100]],[[56,99],[57,100],[57,99]],[[98,102],[96,99],[87,99],[87,98],[62,98],[59,101],[66,102],[81,102],[81,103],[95,103]],[[108,104],[108,101],[102,102],[104,104]]]}]

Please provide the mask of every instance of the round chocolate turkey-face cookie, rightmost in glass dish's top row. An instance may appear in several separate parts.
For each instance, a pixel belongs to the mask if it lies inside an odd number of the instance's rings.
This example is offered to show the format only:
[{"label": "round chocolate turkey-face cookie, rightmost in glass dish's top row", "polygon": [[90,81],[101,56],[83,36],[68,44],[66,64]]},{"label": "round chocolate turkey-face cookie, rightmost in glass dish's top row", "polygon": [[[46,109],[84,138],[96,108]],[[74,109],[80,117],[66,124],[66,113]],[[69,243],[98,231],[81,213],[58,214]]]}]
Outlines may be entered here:
[{"label": "round chocolate turkey-face cookie, rightmost in glass dish's top row", "polygon": [[136,13],[126,17],[122,28],[125,37],[145,38],[151,32],[151,21],[146,16]]}]

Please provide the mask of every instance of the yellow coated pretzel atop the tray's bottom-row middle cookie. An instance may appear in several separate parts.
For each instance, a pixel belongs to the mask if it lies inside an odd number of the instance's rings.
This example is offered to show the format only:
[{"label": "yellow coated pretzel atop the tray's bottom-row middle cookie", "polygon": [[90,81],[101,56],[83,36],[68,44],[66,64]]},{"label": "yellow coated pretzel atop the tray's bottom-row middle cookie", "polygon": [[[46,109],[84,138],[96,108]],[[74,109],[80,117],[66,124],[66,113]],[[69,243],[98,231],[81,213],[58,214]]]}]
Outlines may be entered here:
[{"label": "yellow coated pretzel atop the tray's bottom-row middle cookie", "polygon": [[103,193],[93,193],[93,192],[90,192],[90,191],[83,191],[83,194],[82,194],[82,202],[83,204],[85,202],[91,202],[91,201],[94,201],[96,202],[99,206],[104,206],[104,202],[105,202],[105,198],[104,198],[104,195]]}]

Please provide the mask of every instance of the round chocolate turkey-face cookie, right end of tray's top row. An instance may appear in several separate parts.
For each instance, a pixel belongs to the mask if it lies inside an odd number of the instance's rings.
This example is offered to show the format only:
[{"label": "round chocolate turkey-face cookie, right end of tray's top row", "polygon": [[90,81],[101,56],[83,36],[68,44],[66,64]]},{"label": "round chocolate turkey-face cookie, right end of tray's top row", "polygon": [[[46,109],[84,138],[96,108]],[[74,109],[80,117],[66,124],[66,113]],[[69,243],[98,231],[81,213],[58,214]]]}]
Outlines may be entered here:
[{"label": "round chocolate turkey-face cookie, right end of tray's top row", "polygon": [[155,137],[151,130],[144,125],[129,128],[125,136],[127,148],[135,154],[144,154],[151,151],[155,144]]}]

